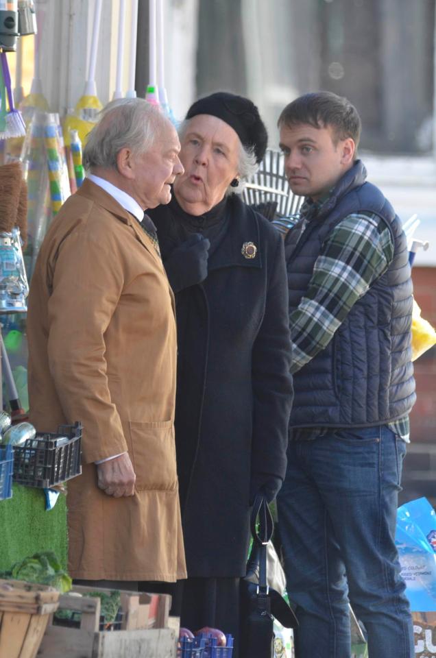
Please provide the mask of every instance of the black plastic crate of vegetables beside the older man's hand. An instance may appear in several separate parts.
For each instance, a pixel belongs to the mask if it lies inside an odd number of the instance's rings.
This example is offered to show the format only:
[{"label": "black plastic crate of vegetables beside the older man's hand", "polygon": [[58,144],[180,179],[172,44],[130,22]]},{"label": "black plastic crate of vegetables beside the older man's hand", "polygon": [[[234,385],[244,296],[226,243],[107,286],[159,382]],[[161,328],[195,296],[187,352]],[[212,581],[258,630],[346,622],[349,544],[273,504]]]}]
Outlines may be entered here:
[{"label": "black plastic crate of vegetables beside the older man's hand", "polygon": [[82,425],[60,425],[58,433],[36,432],[14,446],[14,482],[47,489],[80,475]]}]

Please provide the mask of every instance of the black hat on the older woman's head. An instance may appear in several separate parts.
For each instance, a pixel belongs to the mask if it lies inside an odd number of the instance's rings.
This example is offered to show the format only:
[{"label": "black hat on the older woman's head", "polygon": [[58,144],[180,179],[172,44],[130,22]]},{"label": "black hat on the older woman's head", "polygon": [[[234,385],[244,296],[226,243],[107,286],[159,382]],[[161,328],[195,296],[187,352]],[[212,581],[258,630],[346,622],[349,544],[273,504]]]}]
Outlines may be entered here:
[{"label": "black hat on the older woman's head", "polygon": [[259,111],[247,98],[218,91],[195,101],[189,108],[186,119],[197,114],[212,114],[226,121],[237,132],[244,146],[254,149],[256,162],[261,162],[268,143],[268,133]]}]

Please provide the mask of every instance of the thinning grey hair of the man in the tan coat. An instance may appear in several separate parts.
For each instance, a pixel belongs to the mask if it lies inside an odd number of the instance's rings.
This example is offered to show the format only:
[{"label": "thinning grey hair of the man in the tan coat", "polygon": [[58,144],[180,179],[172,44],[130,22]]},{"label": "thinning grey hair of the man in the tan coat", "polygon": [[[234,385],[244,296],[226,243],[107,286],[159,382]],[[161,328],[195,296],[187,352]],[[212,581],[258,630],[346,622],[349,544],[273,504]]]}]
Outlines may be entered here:
[{"label": "thinning grey hair of the man in the tan coat", "polygon": [[142,98],[111,101],[99,113],[99,121],[88,134],[83,150],[85,169],[117,168],[117,155],[128,147],[135,155],[149,150],[169,121]]}]

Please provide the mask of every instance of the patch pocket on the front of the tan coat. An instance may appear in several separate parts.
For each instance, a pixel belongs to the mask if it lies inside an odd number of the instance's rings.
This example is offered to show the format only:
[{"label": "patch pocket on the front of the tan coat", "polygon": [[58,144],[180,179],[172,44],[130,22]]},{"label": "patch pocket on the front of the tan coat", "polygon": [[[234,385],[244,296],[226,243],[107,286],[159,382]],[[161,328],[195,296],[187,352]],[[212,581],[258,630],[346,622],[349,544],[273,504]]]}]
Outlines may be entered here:
[{"label": "patch pocket on the front of the tan coat", "polygon": [[177,488],[174,427],[171,420],[129,422],[136,491]]}]

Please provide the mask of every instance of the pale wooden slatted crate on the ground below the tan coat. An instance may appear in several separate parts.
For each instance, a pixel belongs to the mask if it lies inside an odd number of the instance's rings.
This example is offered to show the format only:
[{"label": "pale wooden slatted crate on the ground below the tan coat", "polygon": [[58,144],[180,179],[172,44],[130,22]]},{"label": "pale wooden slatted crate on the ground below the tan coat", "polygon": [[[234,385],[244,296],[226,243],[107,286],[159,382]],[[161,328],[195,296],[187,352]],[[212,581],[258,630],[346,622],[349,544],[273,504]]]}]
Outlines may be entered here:
[{"label": "pale wooden slatted crate on the ground below the tan coat", "polygon": [[[86,595],[96,589],[74,586],[73,591]],[[123,630],[99,631],[99,598],[64,594],[59,607],[80,611],[80,628],[49,624],[38,658],[175,658],[178,633],[156,627],[167,626],[170,602],[167,595],[121,592]]]}]

